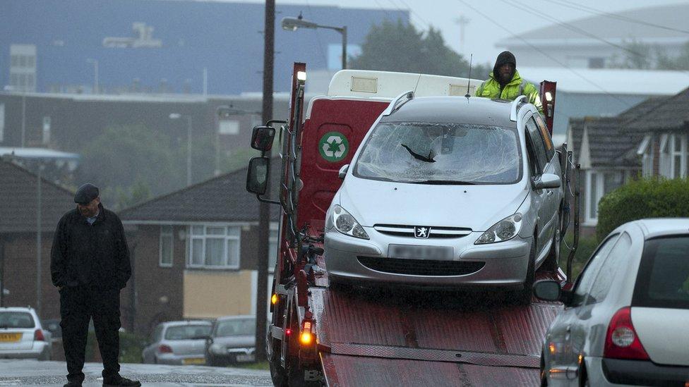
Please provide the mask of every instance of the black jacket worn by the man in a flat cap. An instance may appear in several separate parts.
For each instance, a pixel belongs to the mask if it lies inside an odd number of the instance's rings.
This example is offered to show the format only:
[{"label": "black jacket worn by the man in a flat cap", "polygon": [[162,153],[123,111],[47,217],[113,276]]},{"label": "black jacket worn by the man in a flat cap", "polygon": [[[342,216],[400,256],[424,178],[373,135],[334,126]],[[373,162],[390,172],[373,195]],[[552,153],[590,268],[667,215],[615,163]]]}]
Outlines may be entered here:
[{"label": "black jacket worn by the man in a flat cap", "polygon": [[60,219],[50,252],[53,285],[126,286],[131,264],[124,227],[114,212],[98,207],[93,225],[77,209]]}]

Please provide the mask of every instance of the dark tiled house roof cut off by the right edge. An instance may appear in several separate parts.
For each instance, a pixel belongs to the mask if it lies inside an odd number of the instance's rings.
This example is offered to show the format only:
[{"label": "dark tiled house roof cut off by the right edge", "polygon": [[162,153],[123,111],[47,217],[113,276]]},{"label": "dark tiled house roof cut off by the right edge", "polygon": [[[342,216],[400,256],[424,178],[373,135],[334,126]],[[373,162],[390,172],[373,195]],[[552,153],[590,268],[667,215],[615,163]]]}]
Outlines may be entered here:
[{"label": "dark tiled house roof cut off by the right edge", "polygon": [[635,130],[687,130],[689,128],[689,88],[664,99],[652,113],[635,119],[630,125]]}]

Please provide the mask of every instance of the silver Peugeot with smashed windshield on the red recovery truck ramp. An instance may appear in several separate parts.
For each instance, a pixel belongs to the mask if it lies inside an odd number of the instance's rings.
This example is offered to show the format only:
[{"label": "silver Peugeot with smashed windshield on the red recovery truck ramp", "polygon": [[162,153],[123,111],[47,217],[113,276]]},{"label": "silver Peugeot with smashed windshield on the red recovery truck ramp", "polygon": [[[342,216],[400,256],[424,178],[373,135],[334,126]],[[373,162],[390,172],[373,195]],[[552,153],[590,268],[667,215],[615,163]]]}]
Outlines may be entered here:
[{"label": "silver Peugeot with smashed windshield on the red recovery truck ramp", "polygon": [[[401,106],[400,106],[401,105]],[[398,99],[332,199],[332,282],[522,289],[556,267],[561,166],[537,109],[484,98]]]}]

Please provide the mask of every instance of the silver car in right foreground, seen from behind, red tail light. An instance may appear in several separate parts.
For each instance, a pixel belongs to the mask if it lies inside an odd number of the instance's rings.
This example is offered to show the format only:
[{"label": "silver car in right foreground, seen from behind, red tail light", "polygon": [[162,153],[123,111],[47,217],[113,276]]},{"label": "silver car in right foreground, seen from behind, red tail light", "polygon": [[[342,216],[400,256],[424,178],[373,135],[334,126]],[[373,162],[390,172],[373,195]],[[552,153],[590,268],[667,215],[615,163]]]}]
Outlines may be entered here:
[{"label": "silver car in right foreground, seen from behind, red tail light", "polygon": [[541,385],[689,384],[689,219],[616,228],[574,288],[534,285],[565,309],[546,332]]}]

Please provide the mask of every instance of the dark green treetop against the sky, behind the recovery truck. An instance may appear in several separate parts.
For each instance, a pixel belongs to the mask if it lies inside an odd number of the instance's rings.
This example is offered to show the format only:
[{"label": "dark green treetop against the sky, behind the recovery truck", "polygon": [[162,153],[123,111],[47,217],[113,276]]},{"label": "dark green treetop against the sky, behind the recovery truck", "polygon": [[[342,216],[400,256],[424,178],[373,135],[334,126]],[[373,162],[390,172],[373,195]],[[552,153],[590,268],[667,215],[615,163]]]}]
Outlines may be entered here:
[{"label": "dark green treetop against the sky, behind the recovery truck", "polygon": [[[421,32],[402,20],[384,20],[373,25],[361,46],[361,54],[349,59],[349,68],[359,70],[399,71],[467,77],[469,61],[445,44],[433,27]],[[472,78],[485,79],[488,65],[475,65]]]}]

